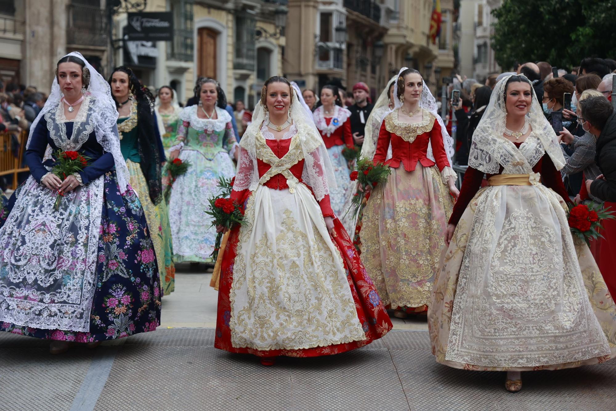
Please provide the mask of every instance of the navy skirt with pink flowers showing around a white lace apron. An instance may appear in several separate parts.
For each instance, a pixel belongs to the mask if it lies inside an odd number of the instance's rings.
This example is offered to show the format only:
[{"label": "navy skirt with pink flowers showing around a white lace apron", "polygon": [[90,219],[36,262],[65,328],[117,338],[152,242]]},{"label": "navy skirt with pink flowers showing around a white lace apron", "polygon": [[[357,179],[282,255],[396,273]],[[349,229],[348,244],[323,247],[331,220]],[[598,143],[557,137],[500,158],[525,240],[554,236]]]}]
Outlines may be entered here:
[{"label": "navy skirt with pink flowers showing around a white lace apron", "polygon": [[[44,330],[7,322],[0,322],[0,331],[91,342],[156,330],[160,324],[160,280],[144,210],[131,188],[120,194],[115,172],[103,178],[97,283],[89,332]],[[23,185],[15,194],[22,188]],[[6,217],[0,219],[0,226],[5,220]]]}]

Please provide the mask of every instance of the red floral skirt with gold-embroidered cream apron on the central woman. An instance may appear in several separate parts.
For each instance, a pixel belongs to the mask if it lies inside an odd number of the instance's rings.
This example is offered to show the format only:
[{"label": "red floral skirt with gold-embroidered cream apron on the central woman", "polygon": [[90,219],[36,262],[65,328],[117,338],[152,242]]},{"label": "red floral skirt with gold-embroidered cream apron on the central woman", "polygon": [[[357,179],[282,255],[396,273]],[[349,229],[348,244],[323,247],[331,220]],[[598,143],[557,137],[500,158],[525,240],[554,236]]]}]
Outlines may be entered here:
[{"label": "red floral skirt with gold-embroidered cream apron on the central woman", "polygon": [[214,346],[315,357],[365,346],[392,324],[338,219],[327,232],[312,193],[259,186],[222,257]]}]

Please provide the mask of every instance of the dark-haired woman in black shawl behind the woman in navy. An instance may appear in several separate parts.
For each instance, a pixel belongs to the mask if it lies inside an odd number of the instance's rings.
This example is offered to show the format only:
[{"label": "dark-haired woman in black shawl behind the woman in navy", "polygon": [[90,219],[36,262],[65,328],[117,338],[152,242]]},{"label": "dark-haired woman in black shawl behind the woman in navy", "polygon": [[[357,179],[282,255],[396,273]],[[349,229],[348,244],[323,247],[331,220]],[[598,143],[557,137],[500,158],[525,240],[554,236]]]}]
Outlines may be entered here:
[{"label": "dark-haired woman in black shawl behind the woman in navy", "polygon": [[175,288],[176,267],[167,204],[162,196],[161,167],[165,157],[153,115],[154,97],[126,66],[113,70],[109,85],[118,108],[120,149],[131,173],[131,187],[144,207],[160,267],[161,291],[167,295]]}]

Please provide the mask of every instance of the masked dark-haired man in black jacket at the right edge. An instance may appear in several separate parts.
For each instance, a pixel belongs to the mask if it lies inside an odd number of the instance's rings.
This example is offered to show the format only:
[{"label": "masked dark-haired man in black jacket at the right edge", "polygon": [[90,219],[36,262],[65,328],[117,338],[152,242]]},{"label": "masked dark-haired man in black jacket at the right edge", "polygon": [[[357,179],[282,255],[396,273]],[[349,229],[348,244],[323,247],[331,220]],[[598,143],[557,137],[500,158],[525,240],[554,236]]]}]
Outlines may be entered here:
[{"label": "masked dark-haired man in black jacket at the right edge", "polygon": [[597,165],[603,173],[596,180],[586,180],[588,193],[609,202],[616,201],[616,112],[603,97],[580,102],[580,122],[585,131],[597,139]]}]

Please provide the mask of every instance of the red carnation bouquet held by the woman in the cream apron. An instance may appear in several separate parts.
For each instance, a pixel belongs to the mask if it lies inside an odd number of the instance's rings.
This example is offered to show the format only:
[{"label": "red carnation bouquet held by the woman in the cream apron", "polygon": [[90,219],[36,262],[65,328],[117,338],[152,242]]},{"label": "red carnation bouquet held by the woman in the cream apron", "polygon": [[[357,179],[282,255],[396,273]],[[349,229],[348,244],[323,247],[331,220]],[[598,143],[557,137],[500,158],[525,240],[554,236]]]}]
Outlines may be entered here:
[{"label": "red carnation bouquet held by the woman in the cream apron", "polygon": [[[222,225],[227,230],[230,230],[233,225],[243,223],[244,220],[244,208],[237,203],[237,201],[231,198],[225,198],[231,193],[231,188],[233,188],[233,182],[235,177],[231,180],[227,180],[224,177],[219,178],[218,186],[222,189],[223,193],[219,196],[209,197],[209,207],[211,210],[206,211],[206,214],[209,214],[214,218],[212,222],[212,226]],[[226,190],[228,192],[225,192]],[[214,251],[211,256],[213,257],[213,261],[216,262],[218,258],[218,251],[221,249],[221,241],[224,232],[221,231],[216,236],[216,242],[214,243]]]}]

